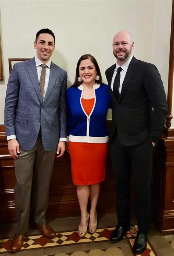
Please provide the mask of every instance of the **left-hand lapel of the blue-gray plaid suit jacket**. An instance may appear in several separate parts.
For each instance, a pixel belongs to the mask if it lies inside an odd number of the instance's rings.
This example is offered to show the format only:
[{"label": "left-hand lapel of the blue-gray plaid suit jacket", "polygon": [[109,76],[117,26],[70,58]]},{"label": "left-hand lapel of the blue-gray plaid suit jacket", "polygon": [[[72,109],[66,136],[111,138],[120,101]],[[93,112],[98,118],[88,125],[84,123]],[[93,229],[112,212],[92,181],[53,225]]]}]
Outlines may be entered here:
[{"label": "left-hand lapel of the blue-gray plaid suit jacket", "polygon": [[41,97],[40,85],[39,85],[39,80],[38,80],[38,75],[37,75],[35,57],[28,61],[27,70],[28,70],[29,76],[32,80],[33,86],[36,90],[37,96],[38,96],[40,102],[42,103],[42,97]]}]

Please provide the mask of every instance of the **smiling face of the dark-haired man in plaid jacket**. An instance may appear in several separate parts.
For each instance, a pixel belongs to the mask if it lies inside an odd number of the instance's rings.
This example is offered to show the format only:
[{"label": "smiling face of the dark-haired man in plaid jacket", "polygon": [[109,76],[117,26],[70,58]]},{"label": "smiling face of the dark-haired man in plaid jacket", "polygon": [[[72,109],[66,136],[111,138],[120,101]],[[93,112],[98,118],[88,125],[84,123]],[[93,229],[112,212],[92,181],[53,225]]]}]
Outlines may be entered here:
[{"label": "smiling face of the dark-haired man in plaid jacket", "polygon": [[36,49],[37,58],[42,63],[47,63],[55,48],[53,36],[47,33],[40,34],[34,43],[34,48]]}]

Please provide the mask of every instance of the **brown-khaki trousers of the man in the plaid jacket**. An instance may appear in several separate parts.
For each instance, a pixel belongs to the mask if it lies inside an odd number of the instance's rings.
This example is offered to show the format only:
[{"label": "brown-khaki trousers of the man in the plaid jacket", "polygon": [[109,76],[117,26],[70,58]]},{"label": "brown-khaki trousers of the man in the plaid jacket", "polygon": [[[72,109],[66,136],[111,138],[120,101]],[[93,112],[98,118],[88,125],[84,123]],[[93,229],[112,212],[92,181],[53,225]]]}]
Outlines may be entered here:
[{"label": "brown-khaki trousers of the man in the plaid jacket", "polygon": [[20,149],[19,157],[14,161],[17,235],[28,231],[32,181],[34,182],[34,220],[39,225],[45,224],[55,152],[56,149],[44,150],[40,132],[33,149],[28,151]]}]

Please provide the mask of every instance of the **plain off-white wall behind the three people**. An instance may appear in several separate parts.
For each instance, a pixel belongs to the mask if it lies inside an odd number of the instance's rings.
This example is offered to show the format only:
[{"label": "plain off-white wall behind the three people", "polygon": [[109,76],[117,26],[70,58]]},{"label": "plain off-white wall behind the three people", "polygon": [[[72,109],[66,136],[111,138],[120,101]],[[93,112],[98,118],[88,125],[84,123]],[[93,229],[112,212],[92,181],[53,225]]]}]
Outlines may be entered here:
[{"label": "plain off-white wall behind the three people", "polygon": [[[9,76],[8,58],[35,56],[36,32],[50,28],[56,37],[52,61],[75,78],[77,60],[90,53],[97,59],[103,81],[115,63],[112,38],[130,31],[134,56],[157,65],[167,92],[172,0],[18,1],[1,0],[1,40],[4,81],[0,82],[0,124]],[[110,114],[108,115],[110,118]]]}]

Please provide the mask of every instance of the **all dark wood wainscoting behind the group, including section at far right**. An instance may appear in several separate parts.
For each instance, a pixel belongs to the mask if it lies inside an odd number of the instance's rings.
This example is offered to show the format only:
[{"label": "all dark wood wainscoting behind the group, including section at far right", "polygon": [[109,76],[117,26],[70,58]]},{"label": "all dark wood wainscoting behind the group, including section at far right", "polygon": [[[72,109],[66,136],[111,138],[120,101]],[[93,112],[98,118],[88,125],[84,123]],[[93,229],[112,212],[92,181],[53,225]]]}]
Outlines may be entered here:
[{"label": "all dark wood wainscoting behind the group, including section at far right", "polygon": [[[111,121],[108,121],[108,129]],[[165,131],[164,131],[165,133]],[[90,168],[90,167],[89,167]],[[0,125],[0,223],[15,221],[14,161],[8,153],[4,126]],[[132,186],[133,187],[133,186]],[[31,211],[32,198],[31,196]],[[131,206],[134,209],[135,194],[131,191]],[[157,144],[152,172],[153,221],[162,234],[174,233],[174,138],[162,135]],[[97,206],[99,214],[116,212],[115,184],[110,154],[106,163],[106,179],[101,184]],[[32,214],[31,214],[32,215]],[[71,179],[70,157],[55,159],[50,184],[50,199],[47,218],[80,216],[76,186]]]}]

